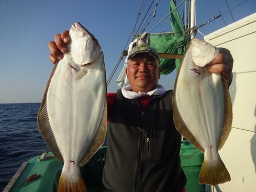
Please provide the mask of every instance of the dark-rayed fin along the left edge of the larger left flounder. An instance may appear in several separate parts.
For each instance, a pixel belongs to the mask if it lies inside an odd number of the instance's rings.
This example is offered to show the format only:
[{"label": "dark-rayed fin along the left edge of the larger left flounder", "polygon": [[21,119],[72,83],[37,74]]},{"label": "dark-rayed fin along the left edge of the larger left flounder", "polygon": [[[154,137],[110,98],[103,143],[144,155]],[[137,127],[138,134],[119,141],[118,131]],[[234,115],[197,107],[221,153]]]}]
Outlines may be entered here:
[{"label": "dark-rayed fin along the left edge of the larger left flounder", "polygon": [[55,69],[57,68],[58,64],[55,64],[51,76],[48,80],[47,86],[46,86],[46,91],[44,92],[42,103],[40,105],[38,114],[37,114],[37,125],[38,125],[38,130],[42,134],[42,137],[44,141],[46,142],[48,148],[52,152],[52,154],[59,160],[63,161],[62,154],[59,150],[59,147],[57,145],[57,142],[55,140],[54,134],[51,129],[51,125],[49,122],[49,117],[47,113],[47,105],[46,105],[46,98],[47,98],[47,92],[48,88],[51,82],[51,78],[55,72]]}]

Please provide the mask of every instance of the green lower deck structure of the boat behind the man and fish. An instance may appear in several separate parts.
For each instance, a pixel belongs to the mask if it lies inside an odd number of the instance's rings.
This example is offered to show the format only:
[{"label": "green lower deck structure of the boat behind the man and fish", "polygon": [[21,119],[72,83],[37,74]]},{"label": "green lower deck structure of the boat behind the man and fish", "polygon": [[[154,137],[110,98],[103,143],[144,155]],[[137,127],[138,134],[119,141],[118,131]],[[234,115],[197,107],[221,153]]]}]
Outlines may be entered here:
[{"label": "green lower deck structure of the boat behind the man and fish", "polygon": [[[106,150],[107,147],[103,146],[90,162],[81,167],[81,173],[84,177],[88,192],[104,190],[102,185],[102,173],[106,160]],[[57,191],[63,163],[56,160],[54,157],[50,157],[51,155],[51,153],[48,153],[46,160],[43,161],[38,161],[40,156],[30,159],[9,191]],[[190,142],[184,141],[181,144],[180,156],[181,165],[187,177],[186,192],[205,191],[205,185],[198,184],[198,175],[203,163],[203,153],[194,148]],[[41,176],[30,183],[19,186],[20,183],[34,173]]]}]

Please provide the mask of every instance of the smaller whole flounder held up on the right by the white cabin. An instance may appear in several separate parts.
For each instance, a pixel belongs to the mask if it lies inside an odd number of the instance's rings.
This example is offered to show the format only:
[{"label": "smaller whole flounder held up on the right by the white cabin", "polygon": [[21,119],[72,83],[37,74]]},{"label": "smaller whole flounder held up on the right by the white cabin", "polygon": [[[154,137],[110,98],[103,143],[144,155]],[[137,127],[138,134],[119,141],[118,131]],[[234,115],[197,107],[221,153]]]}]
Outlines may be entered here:
[{"label": "smaller whole flounder held up on the right by the white cabin", "polygon": [[212,44],[194,38],[177,73],[173,93],[176,129],[204,152],[199,183],[210,185],[230,180],[218,151],[231,130],[232,103],[226,80],[207,70],[218,53]]}]

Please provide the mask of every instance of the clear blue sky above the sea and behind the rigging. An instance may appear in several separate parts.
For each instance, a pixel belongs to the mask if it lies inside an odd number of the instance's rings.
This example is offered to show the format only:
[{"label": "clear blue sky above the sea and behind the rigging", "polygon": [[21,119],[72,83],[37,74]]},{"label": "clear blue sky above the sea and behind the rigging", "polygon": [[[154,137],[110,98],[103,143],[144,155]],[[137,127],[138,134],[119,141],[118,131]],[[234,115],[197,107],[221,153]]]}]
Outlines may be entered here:
[{"label": "clear blue sky above the sea and behind the rigging", "polygon": [[[157,15],[149,31],[169,13],[169,0],[158,0]],[[196,25],[225,13],[222,17],[199,28],[204,35],[232,24],[256,12],[255,0],[196,0]],[[53,64],[48,59],[48,42],[73,22],[79,21],[98,39],[104,52],[107,79],[135,26],[142,0],[0,0],[0,104],[40,103],[51,74]],[[144,0],[145,2],[145,0]],[[148,8],[152,0],[148,0]],[[178,4],[180,1],[177,1]],[[227,12],[229,8],[241,6]],[[157,0],[153,1],[151,10]],[[228,6],[227,6],[228,3]],[[146,13],[144,9],[141,15]],[[142,17],[141,17],[142,18]],[[151,32],[172,31],[169,18]],[[197,32],[196,37],[203,38]],[[121,61],[108,92],[119,88],[115,81],[123,68]],[[159,83],[172,89],[175,71],[162,75]]]}]

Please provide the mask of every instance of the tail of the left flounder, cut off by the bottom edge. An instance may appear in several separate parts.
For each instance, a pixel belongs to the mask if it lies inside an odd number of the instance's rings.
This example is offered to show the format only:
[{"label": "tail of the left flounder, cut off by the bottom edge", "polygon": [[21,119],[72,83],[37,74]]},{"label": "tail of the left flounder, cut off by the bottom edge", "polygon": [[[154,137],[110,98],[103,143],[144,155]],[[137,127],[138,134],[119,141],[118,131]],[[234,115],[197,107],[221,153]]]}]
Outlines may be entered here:
[{"label": "tail of the left flounder, cut off by the bottom edge", "polygon": [[68,172],[66,170],[67,169],[64,169],[63,166],[58,185],[58,192],[87,192],[87,188],[85,186],[84,179],[79,171],[79,167],[78,172],[74,170]]}]

